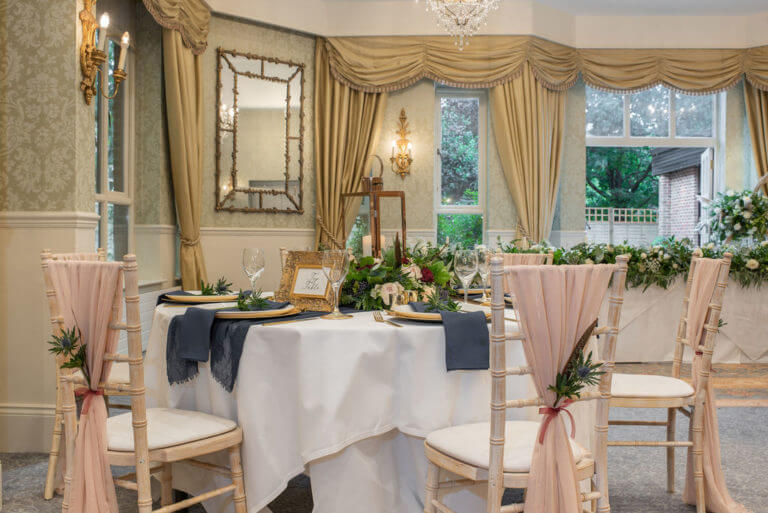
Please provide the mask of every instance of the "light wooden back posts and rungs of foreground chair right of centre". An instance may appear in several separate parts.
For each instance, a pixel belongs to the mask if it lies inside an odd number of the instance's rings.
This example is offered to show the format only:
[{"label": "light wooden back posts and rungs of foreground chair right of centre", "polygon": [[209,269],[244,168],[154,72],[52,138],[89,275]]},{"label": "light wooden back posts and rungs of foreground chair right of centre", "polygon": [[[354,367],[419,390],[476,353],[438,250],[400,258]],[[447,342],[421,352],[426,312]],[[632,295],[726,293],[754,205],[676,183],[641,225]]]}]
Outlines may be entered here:
[{"label": "light wooden back posts and rungs of foreground chair right of centre", "polygon": [[[612,285],[609,296],[608,322],[597,327],[593,335],[606,335],[604,358],[601,363],[605,374],[601,377],[598,390],[588,390],[581,394],[576,401],[597,400],[596,422],[596,447],[595,447],[595,474],[598,491],[590,494],[582,494],[587,501],[599,501],[603,509],[610,511],[607,496],[607,434],[608,411],[611,397],[611,376],[613,374],[613,356],[616,350],[616,339],[619,330],[619,318],[624,297],[624,284],[626,281],[627,262],[626,255],[617,257],[616,269],[612,276]],[[544,399],[540,396],[524,399],[507,400],[507,376],[532,375],[533,368],[530,365],[507,368],[506,366],[506,342],[519,341],[523,344],[530,343],[523,331],[506,333],[504,320],[504,276],[509,274],[512,266],[504,266],[501,258],[491,260],[491,436],[490,436],[490,460],[488,464],[488,513],[501,511],[501,498],[504,494],[504,432],[506,426],[506,411],[510,408],[526,408],[544,406]],[[600,360],[598,360],[600,361]],[[603,494],[605,491],[605,494]],[[598,508],[600,507],[598,506]],[[521,506],[521,505],[516,505]],[[505,507],[505,511],[522,511],[521,509]]]}]

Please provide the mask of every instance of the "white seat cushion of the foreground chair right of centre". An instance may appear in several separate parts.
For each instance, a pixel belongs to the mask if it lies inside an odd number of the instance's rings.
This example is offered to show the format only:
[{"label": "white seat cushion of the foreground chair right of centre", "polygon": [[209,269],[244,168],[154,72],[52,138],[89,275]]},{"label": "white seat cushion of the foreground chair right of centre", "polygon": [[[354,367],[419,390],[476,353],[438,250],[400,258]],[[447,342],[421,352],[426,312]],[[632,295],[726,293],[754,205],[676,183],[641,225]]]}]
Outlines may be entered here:
[{"label": "white seat cushion of the foreground chair right of centre", "polygon": [[[567,421],[566,421],[567,422]],[[528,472],[533,448],[538,443],[539,422],[507,421],[504,427],[504,472]],[[491,426],[488,422],[463,424],[438,431],[427,437],[427,444],[453,458],[479,468],[488,468]],[[571,449],[575,461],[588,451],[574,440]]]}]

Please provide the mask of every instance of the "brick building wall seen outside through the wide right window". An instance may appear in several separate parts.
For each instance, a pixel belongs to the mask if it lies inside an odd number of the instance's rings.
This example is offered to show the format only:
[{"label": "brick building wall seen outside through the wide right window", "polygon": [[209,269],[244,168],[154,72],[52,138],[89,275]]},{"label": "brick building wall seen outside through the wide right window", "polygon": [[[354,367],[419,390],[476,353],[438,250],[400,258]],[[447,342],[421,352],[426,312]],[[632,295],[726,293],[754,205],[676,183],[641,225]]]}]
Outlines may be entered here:
[{"label": "brick building wall seen outside through the wide right window", "polygon": [[699,166],[659,176],[659,235],[689,238],[696,244],[699,219]]}]

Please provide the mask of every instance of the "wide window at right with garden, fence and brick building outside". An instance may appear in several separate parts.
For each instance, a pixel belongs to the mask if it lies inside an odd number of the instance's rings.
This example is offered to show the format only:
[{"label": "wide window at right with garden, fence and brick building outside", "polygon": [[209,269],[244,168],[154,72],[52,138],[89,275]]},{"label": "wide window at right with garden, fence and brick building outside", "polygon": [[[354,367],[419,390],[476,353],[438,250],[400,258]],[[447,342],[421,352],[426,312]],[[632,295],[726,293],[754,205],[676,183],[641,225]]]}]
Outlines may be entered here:
[{"label": "wide window at right with garden, fence and brick building outside", "polygon": [[586,88],[589,240],[706,239],[696,197],[710,197],[714,183],[716,107],[717,95],[663,86],[631,94]]}]

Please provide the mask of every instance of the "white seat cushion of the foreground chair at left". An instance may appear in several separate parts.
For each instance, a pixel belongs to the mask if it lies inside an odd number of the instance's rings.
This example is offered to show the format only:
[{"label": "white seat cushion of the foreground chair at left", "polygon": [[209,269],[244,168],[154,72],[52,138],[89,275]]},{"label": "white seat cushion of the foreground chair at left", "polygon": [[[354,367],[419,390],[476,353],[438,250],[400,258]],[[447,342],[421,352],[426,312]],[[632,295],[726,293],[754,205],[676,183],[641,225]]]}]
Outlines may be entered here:
[{"label": "white seat cushion of the foreground chair at left", "polygon": [[[221,435],[236,427],[237,424],[229,419],[207,413],[171,408],[147,409],[147,441],[150,451]],[[130,412],[107,419],[107,439],[110,451],[133,451]]]}]

